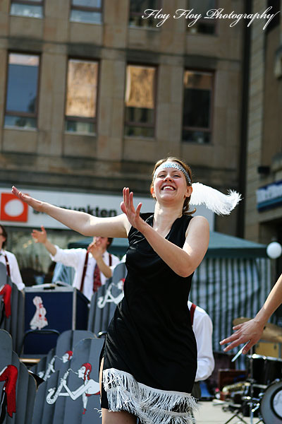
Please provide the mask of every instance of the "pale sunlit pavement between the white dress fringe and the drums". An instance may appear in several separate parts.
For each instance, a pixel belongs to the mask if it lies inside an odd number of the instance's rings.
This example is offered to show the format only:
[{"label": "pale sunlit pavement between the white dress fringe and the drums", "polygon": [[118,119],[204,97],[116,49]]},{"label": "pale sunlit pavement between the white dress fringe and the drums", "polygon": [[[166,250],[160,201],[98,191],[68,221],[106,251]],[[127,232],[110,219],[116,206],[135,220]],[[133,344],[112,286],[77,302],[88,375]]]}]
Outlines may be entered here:
[{"label": "pale sunlit pavement between the white dress fringe and the drums", "polygon": [[[195,413],[196,424],[224,424],[233,416],[233,413],[223,412],[222,405],[214,404],[214,402],[200,402],[199,411]],[[249,417],[244,417],[246,423],[250,423]],[[254,418],[254,424],[259,418]],[[239,418],[233,418],[230,424],[240,423]]]}]

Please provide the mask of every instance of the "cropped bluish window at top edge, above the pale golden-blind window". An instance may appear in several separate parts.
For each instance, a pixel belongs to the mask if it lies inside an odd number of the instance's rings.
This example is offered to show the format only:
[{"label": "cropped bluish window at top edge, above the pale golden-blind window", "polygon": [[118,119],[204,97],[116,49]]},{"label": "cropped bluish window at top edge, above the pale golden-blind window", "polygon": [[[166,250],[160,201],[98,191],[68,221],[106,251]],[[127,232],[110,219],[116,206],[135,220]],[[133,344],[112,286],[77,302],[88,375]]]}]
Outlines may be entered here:
[{"label": "cropped bluish window at top edge, above the pale golden-blind window", "polygon": [[71,20],[102,23],[102,0],[71,0]]}]

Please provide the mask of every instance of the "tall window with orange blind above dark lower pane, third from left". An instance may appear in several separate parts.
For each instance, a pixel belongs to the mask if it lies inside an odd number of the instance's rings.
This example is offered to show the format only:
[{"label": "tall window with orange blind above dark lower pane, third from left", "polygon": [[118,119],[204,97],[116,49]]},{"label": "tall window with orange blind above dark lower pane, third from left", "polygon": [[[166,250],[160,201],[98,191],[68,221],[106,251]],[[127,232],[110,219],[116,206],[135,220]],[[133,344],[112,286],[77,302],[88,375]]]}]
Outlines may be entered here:
[{"label": "tall window with orange blind above dark lower pane, third from left", "polygon": [[152,66],[127,67],[125,136],[154,137],[155,74]]}]

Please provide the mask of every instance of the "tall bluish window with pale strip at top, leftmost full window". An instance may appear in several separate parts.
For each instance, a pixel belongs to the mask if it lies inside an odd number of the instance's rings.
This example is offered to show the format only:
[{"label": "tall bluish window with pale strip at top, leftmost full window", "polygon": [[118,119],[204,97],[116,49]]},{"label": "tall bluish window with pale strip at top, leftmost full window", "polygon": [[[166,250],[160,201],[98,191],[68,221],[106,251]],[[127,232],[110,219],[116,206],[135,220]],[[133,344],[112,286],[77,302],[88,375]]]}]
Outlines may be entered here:
[{"label": "tall bluish window with pale strip at top, leftmost full window", "polygon": [[39,56],[10,53],[5,126],[37,126]]}]

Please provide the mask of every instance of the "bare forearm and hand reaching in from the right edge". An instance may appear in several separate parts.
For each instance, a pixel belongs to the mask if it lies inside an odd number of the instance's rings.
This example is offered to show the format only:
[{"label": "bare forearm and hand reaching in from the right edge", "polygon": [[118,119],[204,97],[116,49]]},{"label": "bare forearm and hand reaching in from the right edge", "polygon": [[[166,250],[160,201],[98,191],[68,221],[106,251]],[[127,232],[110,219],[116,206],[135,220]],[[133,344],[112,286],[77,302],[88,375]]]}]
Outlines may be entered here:
[{"label": "bare forearm and hand reaching in from the right edge", "polygon": [[247,343],[247,346],[243,349],[243,353],[247,353],[252,346],[254,346],[260,338],[262,338],[262,332],[264,331],[264,326],[269,320],[271,315],[276,311],[278,306],[282,303],[282,274],[276,281],[274,288],[268,295],[268,298],[264,302],[262,307],[255,318],[250,319],[250,321],[244,322],[243,324],[238,324],[233,327],[233,330],[236,330],[231,336],[224,338],[220,342],[221,345],[230,343],[224,351],[230,351],[231,349],[239,346],[241,343]]}]

